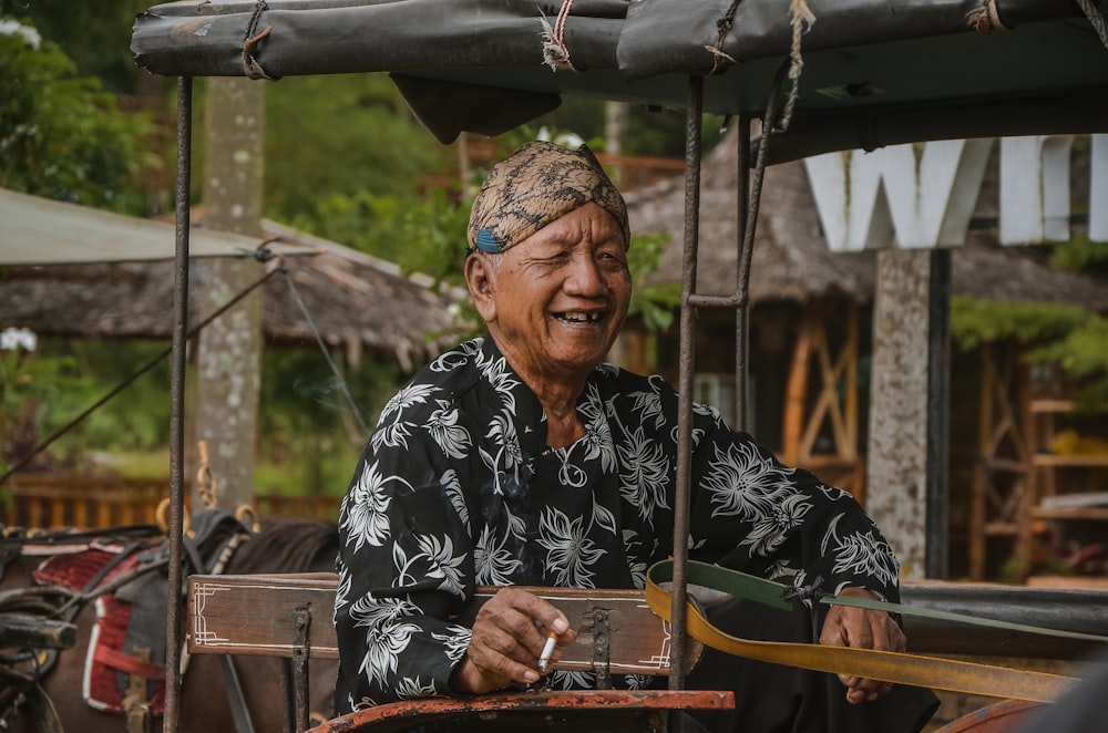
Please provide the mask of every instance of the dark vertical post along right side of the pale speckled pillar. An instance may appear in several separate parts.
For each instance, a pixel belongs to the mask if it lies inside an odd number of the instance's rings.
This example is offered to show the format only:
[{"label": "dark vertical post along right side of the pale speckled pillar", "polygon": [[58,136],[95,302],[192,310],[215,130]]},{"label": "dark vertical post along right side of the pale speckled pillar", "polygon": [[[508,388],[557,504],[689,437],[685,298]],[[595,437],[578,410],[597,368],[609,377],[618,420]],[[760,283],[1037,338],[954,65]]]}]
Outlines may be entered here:
[{"label": "dark vertical post along right side of the pale speckled pillar", "polygon": [[927,517],[924,572],[950,575],[951,250],[931,254],[927,324]]}]

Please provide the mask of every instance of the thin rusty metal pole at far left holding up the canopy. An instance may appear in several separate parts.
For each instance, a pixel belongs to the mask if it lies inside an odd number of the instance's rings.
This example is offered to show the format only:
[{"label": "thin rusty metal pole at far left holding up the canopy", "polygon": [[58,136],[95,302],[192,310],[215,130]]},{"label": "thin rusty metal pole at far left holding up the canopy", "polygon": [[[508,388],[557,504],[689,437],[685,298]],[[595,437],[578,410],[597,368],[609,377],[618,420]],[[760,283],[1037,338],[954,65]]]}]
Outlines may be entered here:
[{"label": "thin rusty metal pole at far left holding up the canopy", "polygon": [[193,80],[177,79],[177,217],[173,271],[173,348],[170,375],[170,581],[165,615],[165,717],[175,733],[181,701],[181,539],[184,530],[185,347],[188,340],[188,227],[193,140]]}]

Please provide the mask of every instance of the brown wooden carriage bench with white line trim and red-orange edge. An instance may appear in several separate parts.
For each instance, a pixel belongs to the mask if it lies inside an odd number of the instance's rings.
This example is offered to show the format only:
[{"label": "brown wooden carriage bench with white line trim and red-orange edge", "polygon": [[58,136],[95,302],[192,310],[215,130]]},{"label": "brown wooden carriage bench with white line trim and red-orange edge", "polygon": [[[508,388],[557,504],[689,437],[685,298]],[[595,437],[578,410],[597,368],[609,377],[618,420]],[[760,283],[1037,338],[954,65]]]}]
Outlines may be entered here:
[{"label": "brown wooden carriage bench with white line trim and red-orange edge", "polygon": [[[188,652],[289,659],[296,715],[290,730],[304,731],[308,727],[308,660],[338,659],[339,655],[331,623],[337,584],[334,574],[191,576]],[[472,621],[480,606],[496,590],[479,588],[470,613],[461,621]],[[375,732],[397,731],[421,721],[444,717],[473,719],[488,731],[492,717],[534,719],[535,724],[557,720],[565,724],[570,717],[583,715],[602,720],[601,727],[595,730],[624,730],[624,723],[618,721],[629,723],[634,720],[638,720],[638,727],[626,730],[658,730],[656,719],[665,711],[733,706],[730,692],[604,689],[609,686],[612,674],[665,675],[669,672],[668,624],[650,611],[642,591],[531,590],[557,606],[578,633],[577,641],[562,650],[554,669],[594,672],[599,690],[407,701],[335,719],[317,731],[337,733],[363,726]],[[259,615],[259,608],[266,612]],[[701,651],[700,642],[689,639],[686,651],[689,667],[699,659]],[[613,715],[615,710],[622,710],[623,714]]]}]

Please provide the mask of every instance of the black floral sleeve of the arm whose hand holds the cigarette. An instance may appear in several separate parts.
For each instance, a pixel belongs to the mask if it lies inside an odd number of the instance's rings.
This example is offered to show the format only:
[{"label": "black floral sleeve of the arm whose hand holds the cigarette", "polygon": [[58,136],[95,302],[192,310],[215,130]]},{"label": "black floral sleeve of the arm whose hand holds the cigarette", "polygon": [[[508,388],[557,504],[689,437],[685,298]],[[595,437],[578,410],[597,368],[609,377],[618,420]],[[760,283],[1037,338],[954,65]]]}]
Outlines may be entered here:
[{"label": "black floral sleeve of the arm whose hand holds the cigarette", "polygon": [[[450,694],[469,646],[471,630],[451,620],[473,593],[468,515],[429,423],[397,416],[379,426],[342,500],[337,709]],[[451,440],[447,450],[456,450],[468,435]]]}]

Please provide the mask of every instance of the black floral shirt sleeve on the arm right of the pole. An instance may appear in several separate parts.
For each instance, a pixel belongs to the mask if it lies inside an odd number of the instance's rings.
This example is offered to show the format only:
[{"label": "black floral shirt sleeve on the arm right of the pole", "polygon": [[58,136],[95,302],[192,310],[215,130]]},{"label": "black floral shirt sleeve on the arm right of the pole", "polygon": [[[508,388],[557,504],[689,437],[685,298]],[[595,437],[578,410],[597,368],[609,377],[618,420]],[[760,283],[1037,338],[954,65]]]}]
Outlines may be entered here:
[{"label": "black floral shirt sleeve on the arm right of the pole", "polygon": [[861,505],[781,464],[707,407],[694,415],[690,541],[707,561],[824,593],[845,586],[899,598],[900,565]]}]

